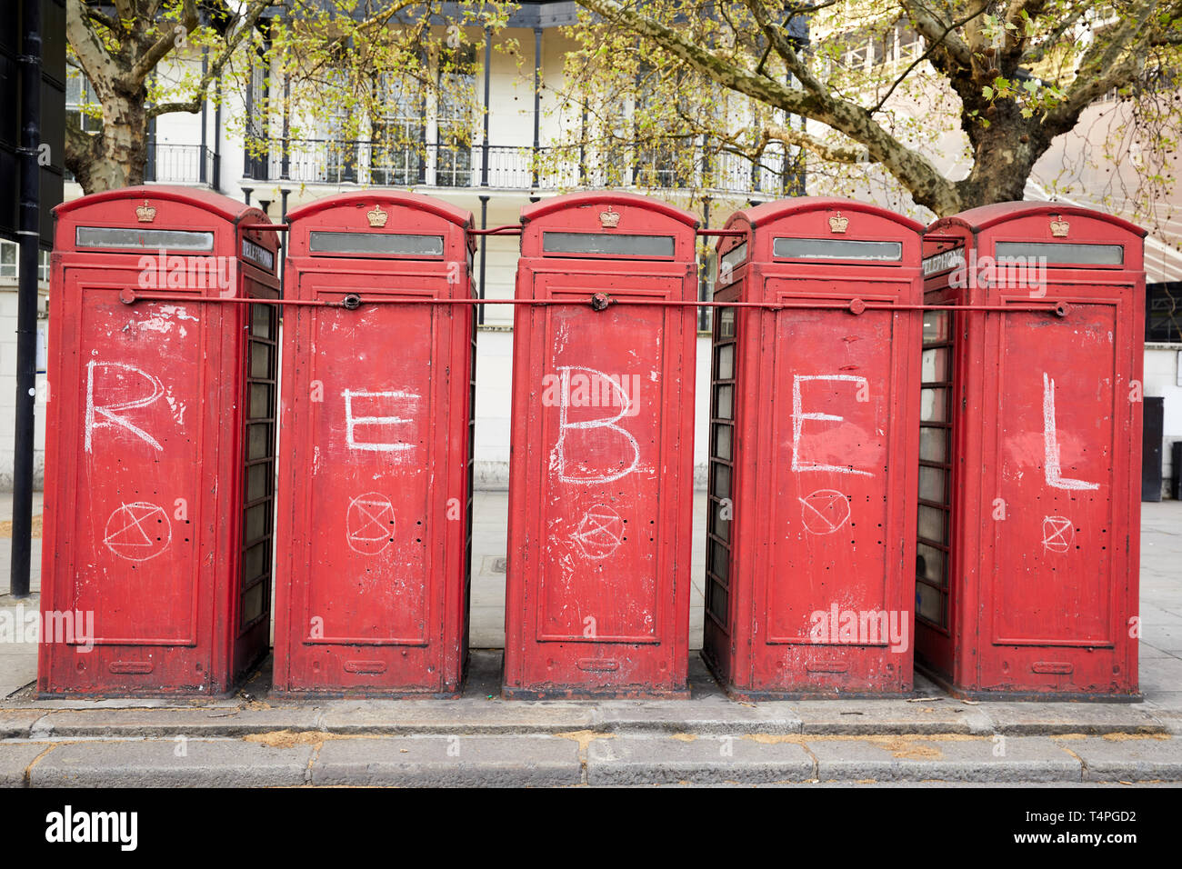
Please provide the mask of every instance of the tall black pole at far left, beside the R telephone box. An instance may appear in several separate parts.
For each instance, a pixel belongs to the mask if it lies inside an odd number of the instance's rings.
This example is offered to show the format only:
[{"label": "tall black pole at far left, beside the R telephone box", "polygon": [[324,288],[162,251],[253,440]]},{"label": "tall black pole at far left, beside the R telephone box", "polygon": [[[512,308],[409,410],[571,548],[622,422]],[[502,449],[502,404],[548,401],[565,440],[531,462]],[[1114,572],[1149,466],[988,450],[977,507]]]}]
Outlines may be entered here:
[{"label": "tall black pole at far left, beside the R telephone box", "polygon": [[40,252],[41,0],[24,0],[20,54],[20,265],[17,294],[17,436],[12,466],[8,591],[28,596],[33,556],[33,421],[37,397],[37,273]]}]

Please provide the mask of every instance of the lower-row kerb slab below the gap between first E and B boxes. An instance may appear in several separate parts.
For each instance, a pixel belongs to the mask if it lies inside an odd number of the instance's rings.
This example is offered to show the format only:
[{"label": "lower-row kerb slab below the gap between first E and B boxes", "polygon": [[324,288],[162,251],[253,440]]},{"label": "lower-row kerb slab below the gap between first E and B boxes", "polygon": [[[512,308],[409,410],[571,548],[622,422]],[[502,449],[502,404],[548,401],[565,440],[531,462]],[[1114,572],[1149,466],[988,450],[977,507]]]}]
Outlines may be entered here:
[{"label": "lower-row kerb slab below the gap between first E and B boxes", "polygon": [[415,787],[577,785],[579,744],[561,737],[394,737],[330,739],[312,764],[313,785]]}]

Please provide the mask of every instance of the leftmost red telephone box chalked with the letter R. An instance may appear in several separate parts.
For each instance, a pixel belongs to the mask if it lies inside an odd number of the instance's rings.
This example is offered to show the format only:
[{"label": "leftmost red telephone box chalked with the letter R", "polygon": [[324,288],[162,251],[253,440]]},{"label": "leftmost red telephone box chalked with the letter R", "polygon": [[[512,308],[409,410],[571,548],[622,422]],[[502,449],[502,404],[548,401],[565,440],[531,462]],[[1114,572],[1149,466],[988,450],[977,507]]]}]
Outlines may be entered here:
[{"label": "leftmost red telephone box chalked with the letter R", "polygon": [[268,644],[275,234],[182,187],[56,214],[38,688],[226,692]]}]

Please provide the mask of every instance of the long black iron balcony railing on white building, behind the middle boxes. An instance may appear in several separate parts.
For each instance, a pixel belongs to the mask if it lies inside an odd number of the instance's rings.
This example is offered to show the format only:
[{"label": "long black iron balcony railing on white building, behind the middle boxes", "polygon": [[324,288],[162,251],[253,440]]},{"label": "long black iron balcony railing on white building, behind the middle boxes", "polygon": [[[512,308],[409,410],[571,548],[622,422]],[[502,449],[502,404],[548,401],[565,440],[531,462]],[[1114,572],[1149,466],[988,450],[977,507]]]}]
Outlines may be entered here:
[{"label": "long black iron balcony railing on white building, behind the middle boxes", "polygon": [[[487,155],[487,156],[486,156]],[[643,155],[643,151],[641,151]],[[483,161],[487,158],[487,179]],[[690,169],[632,151],[598,161],[577,147],[383,145],[370,141],[273,140],[247,161],[255,181],[389,187],[489,187],[559,190],[597,187],[701,189],[739,195],[780,196],[803,187],[780,155],[753,164],[735,154],[703,158]],[[264,176],[265,175],[265,176]]]}]

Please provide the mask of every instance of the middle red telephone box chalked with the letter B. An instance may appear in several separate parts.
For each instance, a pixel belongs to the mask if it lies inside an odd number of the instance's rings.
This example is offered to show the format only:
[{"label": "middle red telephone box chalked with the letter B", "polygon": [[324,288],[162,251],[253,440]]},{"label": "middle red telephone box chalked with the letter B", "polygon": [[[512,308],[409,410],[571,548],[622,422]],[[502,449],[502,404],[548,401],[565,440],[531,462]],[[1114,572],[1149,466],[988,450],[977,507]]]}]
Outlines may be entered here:
[{"label": "middle red telephone box chalked with the letter B", "polygon": [[599,192],[521,223],[504,693],[684,696],[697,221]]}]

